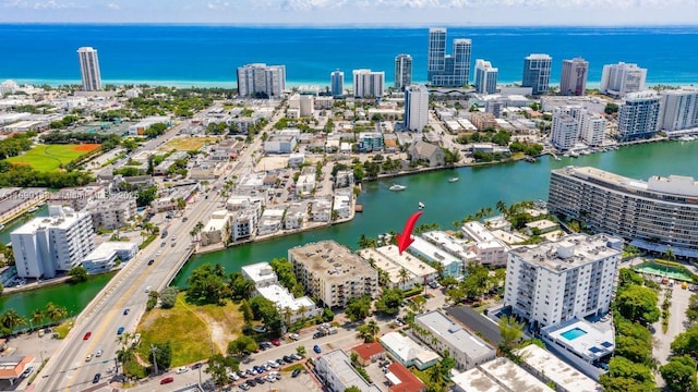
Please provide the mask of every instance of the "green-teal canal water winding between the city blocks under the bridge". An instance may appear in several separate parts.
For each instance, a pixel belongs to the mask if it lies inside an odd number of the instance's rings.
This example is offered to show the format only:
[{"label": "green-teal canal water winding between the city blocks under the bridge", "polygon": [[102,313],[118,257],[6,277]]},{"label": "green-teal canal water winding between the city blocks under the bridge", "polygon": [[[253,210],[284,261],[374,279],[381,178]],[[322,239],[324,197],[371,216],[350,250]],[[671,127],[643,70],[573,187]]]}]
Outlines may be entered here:
[{"label": "green-teal canal water winding between the city blocks under the bridge", "polygon": [[[245,265],[286,257],[288,248],[309,242],[332,238],[357,248],[361,234],[375,237],[381,233],[401,231],[406,218],[418,209],[420,201],[425,208],[419,223],[438,223],[442,229],[454,229],[454,221],[472,215],[480,208],[491,207],[495,210],[498,200],[510,205],[522,200],[547,199],[550,171],[568,164],[597,167],[639,180],[671,174],[698,179],[698,142],[643,144],[579,158],[561,158],[562,160],[556,161],[551,157],[542,157],[535,163],[520,161],[459,168],[366,183],[359,196],[364,212],[357,213],[351,222],[194,256],[174,278],[172,285],[186,286],[186,278],[191,271],[203,264],[218,262],[228,272],[238,271]],[[459,181],[448,182],[453,176],[458,176]],[[393,183],[407,188],[390,192],[388,187]],[[91,280],[83,286],[67,286],[71,289],[61,294],[41,289],[8,298],[0,297],[0,309],[4,311],[14,307],[21,315],[27,315],[46,302],[58,303],[61,295],[67,295],[65,298],[61,297],[64,301],[62,304],[65,304],[63,306],[82,309],[106,283],[106,280]],[[89,295],[83,295],[81,291],[89,292]],[[14,298],[24,296],[31,296],[32,302]],[[15,307],[21,304],[31,305]]]}]

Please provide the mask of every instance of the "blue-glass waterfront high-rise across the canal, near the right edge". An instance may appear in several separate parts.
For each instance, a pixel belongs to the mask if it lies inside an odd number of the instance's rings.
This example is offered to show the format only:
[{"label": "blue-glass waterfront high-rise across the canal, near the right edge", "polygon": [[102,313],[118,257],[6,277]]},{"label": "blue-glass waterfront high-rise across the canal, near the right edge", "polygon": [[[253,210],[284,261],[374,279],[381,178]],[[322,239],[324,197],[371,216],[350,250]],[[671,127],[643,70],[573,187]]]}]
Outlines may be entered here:
[{"label": "blue-glass waterfront high-rise across the canal, near the right edge", "polygon": [[618,109],[618,139],[651,137],[658,131],[660,97],[654,91],[628,93]]}]

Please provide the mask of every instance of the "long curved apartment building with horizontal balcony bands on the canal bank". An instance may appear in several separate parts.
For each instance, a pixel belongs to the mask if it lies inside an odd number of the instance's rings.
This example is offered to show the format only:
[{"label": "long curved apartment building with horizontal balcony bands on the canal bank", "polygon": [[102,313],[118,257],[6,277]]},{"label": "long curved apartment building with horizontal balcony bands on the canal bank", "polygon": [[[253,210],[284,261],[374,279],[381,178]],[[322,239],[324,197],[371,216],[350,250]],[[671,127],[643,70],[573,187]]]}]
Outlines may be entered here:
[{"label": "long curved apartment building with horizontal balcony bands on the canal bank", "polygon": [[638,248],[672,249],[676,256],[696,258],[696,197],[698,183],[688,176],[640,181],[595,168],[566,167],[551,172],[547,209]]}]

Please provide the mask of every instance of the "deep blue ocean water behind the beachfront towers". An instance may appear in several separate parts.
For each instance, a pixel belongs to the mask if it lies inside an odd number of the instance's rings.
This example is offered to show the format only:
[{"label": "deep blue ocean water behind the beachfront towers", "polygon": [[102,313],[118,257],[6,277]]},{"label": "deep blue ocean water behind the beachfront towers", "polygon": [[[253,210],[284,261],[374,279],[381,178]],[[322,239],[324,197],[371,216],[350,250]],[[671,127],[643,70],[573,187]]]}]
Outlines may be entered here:
[{"label": "deep blue ocean water behind the beachfront towers", "polygon": [[[413,58],[413,81],[426,79],[428,28],[299,28],[184,25],[0,25],[0,81],[80,83],[76,50],[95,47],[104,83],[233,87],[236,69],[251,62],[285,64],[287,84],[327,86],[329,73],[368,68],[394,79],[394,59]],[[500,82],[521,79],[529,53],[590,63],[589,86],[603,64],[635,62],[648,84],[698,83],[698,26],[687,27],[449,27],[447,41],[472,39],[474,59],[500,69]],[[447,49],[450,52],[450,48]],[[470,78],[472,81],[472,71]]]}]

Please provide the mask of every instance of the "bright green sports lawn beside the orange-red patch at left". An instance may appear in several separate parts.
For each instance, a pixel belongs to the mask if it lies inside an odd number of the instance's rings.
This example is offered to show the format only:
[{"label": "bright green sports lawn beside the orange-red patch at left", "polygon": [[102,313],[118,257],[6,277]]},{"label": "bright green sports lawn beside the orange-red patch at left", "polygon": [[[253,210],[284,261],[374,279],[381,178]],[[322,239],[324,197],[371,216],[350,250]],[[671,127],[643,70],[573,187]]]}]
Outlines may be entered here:
[{"label": "bright green sports lawn beside the orange-red patch at left", "polygon": [[35,170],[49,172],[99,147],[98,144],[38,145],[23,155],[8,158],[8,161],[12,164],[28,164]]}]

